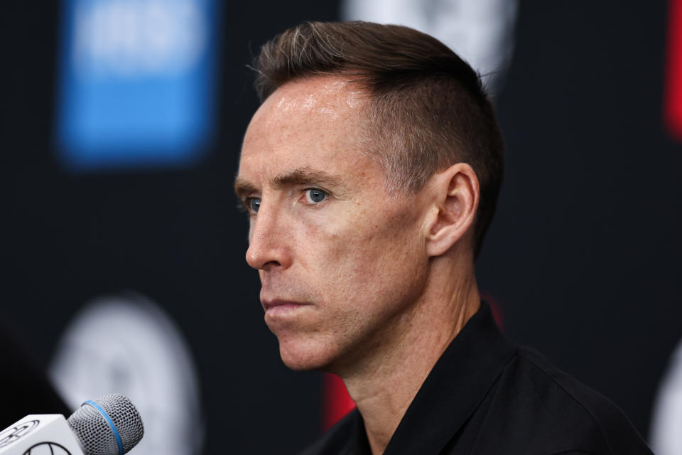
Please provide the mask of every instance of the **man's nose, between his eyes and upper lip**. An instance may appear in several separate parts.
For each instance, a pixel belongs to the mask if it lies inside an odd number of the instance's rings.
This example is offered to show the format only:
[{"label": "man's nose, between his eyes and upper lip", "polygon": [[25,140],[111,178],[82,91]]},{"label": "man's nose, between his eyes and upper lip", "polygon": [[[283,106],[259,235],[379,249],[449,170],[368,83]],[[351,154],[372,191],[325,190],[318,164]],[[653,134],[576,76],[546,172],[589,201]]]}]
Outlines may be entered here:
[{"label": "man's nose, between his eyes and upper lip", "polygon": [[276,210],[261,203],[257,215],[251,218],[247,263],[254,269],[286,269],[291,265],[291,253],[286,239],[286,223]]}]

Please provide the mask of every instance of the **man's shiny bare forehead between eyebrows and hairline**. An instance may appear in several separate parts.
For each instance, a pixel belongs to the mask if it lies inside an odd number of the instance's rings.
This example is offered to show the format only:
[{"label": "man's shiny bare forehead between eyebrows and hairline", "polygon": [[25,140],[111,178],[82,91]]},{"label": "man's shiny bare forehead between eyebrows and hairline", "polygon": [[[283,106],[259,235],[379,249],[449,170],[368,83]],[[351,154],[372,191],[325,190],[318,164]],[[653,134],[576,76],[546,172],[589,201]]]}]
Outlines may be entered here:
[{"label": "man's shiny bare forehead between eyebrows and hairline", "polygon": [[239,178],[250,181],[296,168],[345,173],[366,167],[361,152],[367,97],[342,77],[288,82],[270,95],[244,136]]}]

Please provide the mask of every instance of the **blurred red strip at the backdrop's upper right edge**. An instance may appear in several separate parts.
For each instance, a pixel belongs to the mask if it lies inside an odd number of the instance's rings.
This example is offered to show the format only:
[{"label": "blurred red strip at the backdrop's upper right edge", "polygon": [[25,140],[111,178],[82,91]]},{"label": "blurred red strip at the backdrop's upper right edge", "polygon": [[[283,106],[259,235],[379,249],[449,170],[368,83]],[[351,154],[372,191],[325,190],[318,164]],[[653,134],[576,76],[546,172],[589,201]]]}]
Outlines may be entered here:
[{"label": "blurred red strip at the backdrop's upper right edge", "polygon": [[663,117],[670,134],[682,140],[682,0],[670,0],[668,18]]}]

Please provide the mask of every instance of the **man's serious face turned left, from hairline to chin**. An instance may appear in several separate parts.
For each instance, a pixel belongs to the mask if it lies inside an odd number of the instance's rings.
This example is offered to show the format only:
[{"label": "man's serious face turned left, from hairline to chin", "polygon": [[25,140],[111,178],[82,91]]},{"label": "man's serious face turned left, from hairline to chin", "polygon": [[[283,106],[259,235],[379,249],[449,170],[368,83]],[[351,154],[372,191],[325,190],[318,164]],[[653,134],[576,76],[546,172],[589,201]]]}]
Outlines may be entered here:
[{"label": "man's serious face turned left, from hairline to chin", "polygon": [[388,349],[426,279],[423,201],[389,193],[359,149],[365,103],[338,77],[288,82],[244,137],[247,262],[290,368],[337,371]]}]

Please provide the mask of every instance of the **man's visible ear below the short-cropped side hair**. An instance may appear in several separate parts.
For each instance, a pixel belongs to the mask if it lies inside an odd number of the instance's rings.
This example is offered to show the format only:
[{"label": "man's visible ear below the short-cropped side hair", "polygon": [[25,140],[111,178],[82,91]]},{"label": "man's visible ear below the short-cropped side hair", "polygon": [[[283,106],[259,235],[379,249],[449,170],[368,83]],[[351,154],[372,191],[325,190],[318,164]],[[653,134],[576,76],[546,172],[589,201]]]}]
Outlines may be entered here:
[{"label": "man's visible ear below the short-cropped side hair", "polygon": [[440,256],[472,230],[480,193],[476,173],[465,163],[453,164],[431,179],[434,198],[426,249],[429,256]]}]

